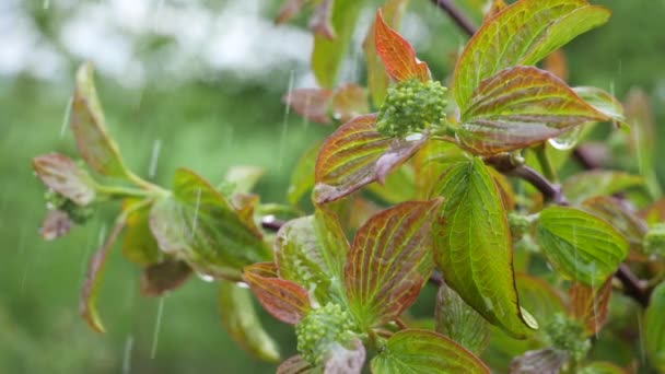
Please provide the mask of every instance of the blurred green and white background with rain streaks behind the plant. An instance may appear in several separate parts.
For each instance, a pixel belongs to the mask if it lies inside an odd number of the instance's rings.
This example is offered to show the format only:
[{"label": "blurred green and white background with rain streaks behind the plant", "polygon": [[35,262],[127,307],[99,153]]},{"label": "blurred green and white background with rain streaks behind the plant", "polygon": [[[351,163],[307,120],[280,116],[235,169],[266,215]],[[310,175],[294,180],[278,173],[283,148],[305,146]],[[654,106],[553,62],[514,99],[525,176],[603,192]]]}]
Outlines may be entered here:
[{"label": "blurred green and white background with rain streaks behind the plant", "polygon": [[[485,1],[458,1],[471,9]],[[665,1],[597,0],[609,24],[565,48],[570,82],[623,97],[632,86],[665,119]],[[362,80],[360,43],[378,1],[368,1],[339,81]],[[307,14],[275,26],[277,0],[4,0],[0,2],[0,373],[259,373],[222,329],[217,288],[194,279],[162,300],[138,294],[139,269],[114,252],[100,297],[108,332],[79,318],[78,296],[90,254],[113,220],[104,211],[84,227],[46,243],[45,208],[31,157],[74,155],[65,128],[72,74],[97,69],[109,130],[140,175],[167,185],[187,166],[213,183],[232,165],[267,170],[262,201],[283,202],[295,159],[330,128],[285,116],[289,87],[313,86]],[[451,72],[465,43],[442,12],[411,0],[402,32],[435,77]],[[658,131],[661,144],[665,131]],[[156,157],[155,157],[156,156]],[[660,149],[656,160],[665,152]],[[151,160],[155,174],[149,175]],[[665,175],[665,163],[656,162]],[[264,315],[293,352],[292,332]],[[155,332],[156,331],[156,332]]]}]

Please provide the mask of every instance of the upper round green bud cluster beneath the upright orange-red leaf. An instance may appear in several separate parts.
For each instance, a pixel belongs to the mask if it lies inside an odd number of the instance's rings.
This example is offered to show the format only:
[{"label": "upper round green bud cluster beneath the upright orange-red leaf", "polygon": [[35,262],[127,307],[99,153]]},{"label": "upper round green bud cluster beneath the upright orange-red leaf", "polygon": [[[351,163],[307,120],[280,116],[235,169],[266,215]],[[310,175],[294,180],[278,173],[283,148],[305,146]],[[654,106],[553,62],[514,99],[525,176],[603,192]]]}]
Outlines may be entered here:
[{"label": "upper round green bud cluster beneath the upright orange-red leaf", "polygon": [[378,132],[398,137],[419,132],[431,125],[445,121],[446,87],[436,81],[418,79],[401,81],[388,87],[387,96],[378,110]]}]

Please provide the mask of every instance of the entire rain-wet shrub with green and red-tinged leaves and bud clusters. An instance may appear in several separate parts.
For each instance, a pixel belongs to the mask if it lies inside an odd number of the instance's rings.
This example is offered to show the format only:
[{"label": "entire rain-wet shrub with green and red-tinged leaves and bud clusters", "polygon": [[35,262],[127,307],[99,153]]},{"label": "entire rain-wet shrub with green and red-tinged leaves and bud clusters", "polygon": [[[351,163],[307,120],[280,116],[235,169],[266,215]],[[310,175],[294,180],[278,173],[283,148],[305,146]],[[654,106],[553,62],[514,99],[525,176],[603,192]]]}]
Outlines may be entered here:
[{"label": "entire rain-wet shrub with green and red-tinged leaves and bud clusters", "polygon": [[[307,3],[288,1],[278,21]],[[406,1],[387,0],[364,44],[370,100],[355,83],[334,86],[361,4],[317,2],[312,63],[322,89],[284,96],[312,120],[343,122],[303,154],[292,207],[261,204],[249,192],[260,176],[252,168],[230,171],[218,188],[187,170],[176,171],[170,190],[141,179],[107,135],[91,66],[81,67],[70,125],[96,178],[61,154],[33,166],[49,189],[46,238],[100,203],[121,201],[90,261],[85,319],[103,330],[96,290],[125,230],[122,252],[143,269],[144,294],[194,272],[219,281],[224,326],[264,360],[278,361],[277,347],[236,283],[294,325],[299,354],[279,373],[360,373],[365,362],[375,373],[623,373],[646,363],[602,362],[593,350],[638,332],[627,313],[645,326],[632,343],[665,370],[665,203],[645,100],[631,94],[623,110],[599,89],[570,87],[561,73],[559,48],[609,11],[584,0],[494,1],[447,90],[394,28]],[[551,71],[536,67],[544,59]],[[609,143],[637,154],[637,166],[621,166],[638,173],[586,171],[559,185],[576,141],[597,122],[617,125]],[[575,154],[595,165],[625,162],[596,156],[598,145]],[[310,190],[305,215],[298,204]],[[434,315],[415,318],[407,311],[428,282],[439,287]]]}]

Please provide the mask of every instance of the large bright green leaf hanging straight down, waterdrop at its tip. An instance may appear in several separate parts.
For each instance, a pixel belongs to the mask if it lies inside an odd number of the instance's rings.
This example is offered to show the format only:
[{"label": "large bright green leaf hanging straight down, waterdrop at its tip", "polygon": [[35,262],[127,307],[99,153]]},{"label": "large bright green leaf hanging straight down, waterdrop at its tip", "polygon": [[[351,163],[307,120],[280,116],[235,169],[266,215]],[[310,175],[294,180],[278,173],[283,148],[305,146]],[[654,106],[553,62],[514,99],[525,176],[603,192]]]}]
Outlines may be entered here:
[{"label": "large bright green leaf hanging straight down, waterdrop at its tip", "polygon": [[491,324],[525,337],[505,211],[478,157],[451,166],[434,189],[446,200],[433,227],[434,260],[446,283]]}]

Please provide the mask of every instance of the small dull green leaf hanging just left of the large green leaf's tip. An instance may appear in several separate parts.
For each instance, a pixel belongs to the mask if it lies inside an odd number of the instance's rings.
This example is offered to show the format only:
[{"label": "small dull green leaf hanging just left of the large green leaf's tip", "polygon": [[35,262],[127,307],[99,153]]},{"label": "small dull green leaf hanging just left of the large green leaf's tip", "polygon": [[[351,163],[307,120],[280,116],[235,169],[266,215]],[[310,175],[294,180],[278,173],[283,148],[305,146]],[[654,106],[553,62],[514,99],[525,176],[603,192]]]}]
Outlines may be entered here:
[{"label": "small dull green leaf hanging just left of the large green leaf's tip", "polygon": [[436,294],[434,319],[436,332],[455,340],[474,354],[480,354],[489,343],[487,320],[445,284]]}]

